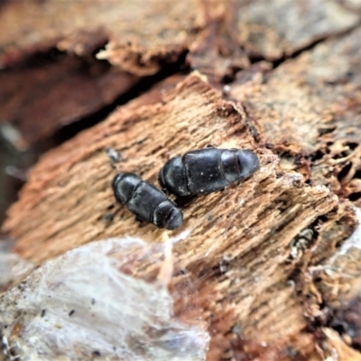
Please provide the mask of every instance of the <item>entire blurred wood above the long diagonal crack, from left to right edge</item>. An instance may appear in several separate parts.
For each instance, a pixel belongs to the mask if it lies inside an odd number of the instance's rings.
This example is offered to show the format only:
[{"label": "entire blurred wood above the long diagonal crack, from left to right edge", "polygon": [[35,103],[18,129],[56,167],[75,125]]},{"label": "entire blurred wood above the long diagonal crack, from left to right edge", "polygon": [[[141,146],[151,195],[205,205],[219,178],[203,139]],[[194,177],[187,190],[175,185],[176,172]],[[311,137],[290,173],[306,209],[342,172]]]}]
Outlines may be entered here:
[{"label": "entire blurred wood above the long diagonal crack, from left to right edge", "polygon": [[[187,52],[193,69],[215,81],[229,80],[239,69],[248,69],[250,59],[280,60],[347,31],[359,19],[356,9],[334,1],[266,3],[5,2],[0,69],[12,70],[0,73],[0,118],[16,124],[28,144],[36,143]],[[116,69],[99,64],[95,54]]]}]

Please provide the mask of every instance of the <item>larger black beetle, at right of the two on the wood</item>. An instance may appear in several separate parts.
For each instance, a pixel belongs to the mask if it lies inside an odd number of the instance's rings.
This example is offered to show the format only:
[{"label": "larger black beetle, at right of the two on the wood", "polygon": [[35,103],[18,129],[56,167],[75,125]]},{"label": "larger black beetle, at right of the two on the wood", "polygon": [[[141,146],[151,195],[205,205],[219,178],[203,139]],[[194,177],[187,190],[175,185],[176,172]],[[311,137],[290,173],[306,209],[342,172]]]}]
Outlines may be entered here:
[{"label": "larger black beetle, at right of the two on the wood", "polygon": [[159,172],[162,189],[179,196],[223,190],[252,175],[260,164],[252,151],[205,148],[171,158]]}]

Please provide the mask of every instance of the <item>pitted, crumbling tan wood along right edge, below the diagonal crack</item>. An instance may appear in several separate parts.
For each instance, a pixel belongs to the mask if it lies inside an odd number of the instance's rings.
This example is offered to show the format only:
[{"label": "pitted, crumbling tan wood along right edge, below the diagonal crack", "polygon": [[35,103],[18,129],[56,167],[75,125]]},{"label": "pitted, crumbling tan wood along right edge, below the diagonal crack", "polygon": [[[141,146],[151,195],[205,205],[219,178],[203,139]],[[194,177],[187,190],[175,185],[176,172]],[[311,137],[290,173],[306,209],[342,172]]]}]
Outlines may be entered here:
[{"label": "pitted, crumbling tan wood along right edge, below the diagonal crack", "polygon": [[[256,139],[280,155],[283,171],[300,171],[311,185],[327,185],[338,194],[341,207],[325,223],[310,226],[312,240],[292,260],[292,280],[305,316],[338,329],[357,349],[361,322],[347,315],[357,312],[359,251],[350,248],[343,255],[339,249],[355,228],[353,205],[359,207],[361,200],[359,47],[356,29],[273,71],[240,73],[229,87],[229,97],[253,120]],[[333,331],[324,335],[329,345],[341,345]],[[340,359],[350,359],[344,347],[338,352]]]}]

